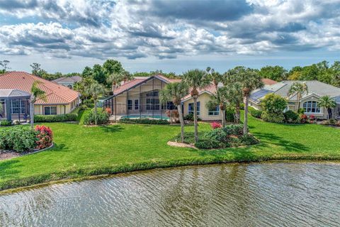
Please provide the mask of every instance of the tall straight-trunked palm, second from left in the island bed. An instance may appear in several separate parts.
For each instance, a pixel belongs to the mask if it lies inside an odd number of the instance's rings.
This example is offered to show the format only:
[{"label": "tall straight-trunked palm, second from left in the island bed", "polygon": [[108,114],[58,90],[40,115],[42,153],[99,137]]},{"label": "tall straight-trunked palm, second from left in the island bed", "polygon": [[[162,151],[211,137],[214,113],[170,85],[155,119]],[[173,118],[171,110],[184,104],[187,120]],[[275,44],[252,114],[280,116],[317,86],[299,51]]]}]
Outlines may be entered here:
[{"label": "tall straight-trunked palm, second from left in the island bed", "polygon": [[193,98],[193,123],[195,128],[195,143],[198,142],[197,99],[198,89],[204,89],[210,84],[208,73],[204,70],[188,70],[183,73],[183,82],[191,88]]}]

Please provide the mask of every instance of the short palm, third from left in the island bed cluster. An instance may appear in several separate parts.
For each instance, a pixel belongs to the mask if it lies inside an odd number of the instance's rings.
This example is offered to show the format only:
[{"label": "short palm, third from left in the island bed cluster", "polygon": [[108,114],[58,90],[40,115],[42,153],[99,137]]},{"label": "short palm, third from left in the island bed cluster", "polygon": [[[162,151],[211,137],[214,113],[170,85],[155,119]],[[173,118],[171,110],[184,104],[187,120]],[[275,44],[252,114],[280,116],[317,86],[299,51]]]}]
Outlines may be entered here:
[{"label": "short palm, third from left in the island bed cluster", "polygon": [[208,109],[215,109],[216,106],[220,107],[222,126],[225,127],[225,109],[227,108],[227,88],[220,87],[217,89],[216,94],[211,96],[210,101],[207,102],[206,106]]}]

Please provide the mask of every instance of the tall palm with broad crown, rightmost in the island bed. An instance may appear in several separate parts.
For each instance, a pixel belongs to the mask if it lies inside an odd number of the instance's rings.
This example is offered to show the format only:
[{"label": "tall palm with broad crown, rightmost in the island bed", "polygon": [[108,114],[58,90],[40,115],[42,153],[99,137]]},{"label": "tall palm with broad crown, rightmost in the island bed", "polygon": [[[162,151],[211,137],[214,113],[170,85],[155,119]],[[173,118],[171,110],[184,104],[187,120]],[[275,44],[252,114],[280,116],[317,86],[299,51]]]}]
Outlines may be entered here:
[{"label": "tall palm with broad crown, rightmost in the island bed", "polygon": [[242,89],[242,96],[244,99],[244,134],[248,133],[248,103],[249,96],[252,91],[263,87],[263,82],[261,76],[255,70],[243,66],[234,67],[234,69],[227,72],[227,77],[225,79],[228,84],[233,84],[238,82]]}]

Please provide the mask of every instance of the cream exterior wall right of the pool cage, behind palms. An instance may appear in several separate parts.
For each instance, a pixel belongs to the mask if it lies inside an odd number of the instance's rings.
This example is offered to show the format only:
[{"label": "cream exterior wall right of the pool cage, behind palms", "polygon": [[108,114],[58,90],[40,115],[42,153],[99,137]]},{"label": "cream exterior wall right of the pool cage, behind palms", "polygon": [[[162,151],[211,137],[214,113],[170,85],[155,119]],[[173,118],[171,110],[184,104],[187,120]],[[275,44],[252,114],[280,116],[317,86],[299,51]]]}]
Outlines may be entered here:
[{"label": "cream exterior wall right of the pool cage, behind palms", "polygon": [[[200,101],[200,115],[198,115],[199,118],[201,118],[203,121],[220,121],[221,120],[221,111],[219,115],[209,116],[208,115],[208,108],[205,106],[208,101],[210,101],[210,95],[207,93],[200,94],[198,96],[197,101]],[[188,114],[189,110],[189,104],[193,103],[193,99],[188,99],[183,102],[183,114],[186,116]]]}]

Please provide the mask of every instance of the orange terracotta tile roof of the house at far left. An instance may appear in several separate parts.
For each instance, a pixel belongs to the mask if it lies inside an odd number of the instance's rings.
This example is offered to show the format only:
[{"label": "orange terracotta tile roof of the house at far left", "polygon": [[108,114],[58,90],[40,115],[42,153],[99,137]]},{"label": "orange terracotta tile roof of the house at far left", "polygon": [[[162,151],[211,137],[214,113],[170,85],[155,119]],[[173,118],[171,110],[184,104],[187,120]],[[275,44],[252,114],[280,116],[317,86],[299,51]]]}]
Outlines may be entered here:
[{"label": "orange terracotta tile roof of the house at far left", "polygon": [[46,93],[47,102],[38,99],[36,104],[68,104],[79,97],[79,93],[55,84],[46,79],[36,77],[27,72],[6,72],[0,75],[0,89],[19,89],[30,93],[33,82],[38,80],[42,82],[39,88]]}]

